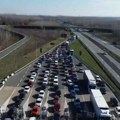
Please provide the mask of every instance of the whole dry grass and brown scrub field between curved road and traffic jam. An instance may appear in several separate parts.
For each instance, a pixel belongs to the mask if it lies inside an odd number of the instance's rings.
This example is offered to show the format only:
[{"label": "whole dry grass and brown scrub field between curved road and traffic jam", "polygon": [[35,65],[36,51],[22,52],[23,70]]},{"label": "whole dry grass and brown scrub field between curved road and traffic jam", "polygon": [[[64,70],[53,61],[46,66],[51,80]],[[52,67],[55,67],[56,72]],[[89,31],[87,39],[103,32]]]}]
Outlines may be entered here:
[{"label": "whole dry grass and brown scrub field between curved road and traffic jam", "polygon": [[[9,54],[7,57],[0,61],[0,78],[4,78],[12,72],[18,70],[22,66],[34,60],[44,52],[48,51],[64,39],[60,38],[61,32],[56,30],[21,30],[22,32],[30,35],[31,40],[25,43],[23,46]],[[54,42],[55,45],[50,43]],[[40,53],[40,48],[43,48],[43,52]]]}]

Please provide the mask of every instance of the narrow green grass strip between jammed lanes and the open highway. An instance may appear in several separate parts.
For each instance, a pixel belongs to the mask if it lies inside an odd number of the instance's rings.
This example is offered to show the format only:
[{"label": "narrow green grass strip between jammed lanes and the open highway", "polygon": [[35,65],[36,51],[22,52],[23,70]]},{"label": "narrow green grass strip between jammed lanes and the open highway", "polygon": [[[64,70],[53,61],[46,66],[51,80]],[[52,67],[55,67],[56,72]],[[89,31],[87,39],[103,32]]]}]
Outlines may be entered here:
[{"label": "narrow green grass strip between jammed lanes and the open highway", "polygon": [[[103,71],[102,67],[95,61],[95,59],[91,56],[91,54],[84,47],[84,45],[79,40],[76,40],[74,43],[72,43],[71,48],[74,49],[74,56],[77,59],[82,60],[82,62],[89,69],[91,69],[95,73],[99,74],[105,80],[105,82],[109,85],[109,87],[114,92],[114,94],[117,96],[117,98],[120,100],[120,90],[113,83],[113,80],[111,80],[106,75],[106,73]],[[81,55],[79,54],[80,51],[82,52]]]}]

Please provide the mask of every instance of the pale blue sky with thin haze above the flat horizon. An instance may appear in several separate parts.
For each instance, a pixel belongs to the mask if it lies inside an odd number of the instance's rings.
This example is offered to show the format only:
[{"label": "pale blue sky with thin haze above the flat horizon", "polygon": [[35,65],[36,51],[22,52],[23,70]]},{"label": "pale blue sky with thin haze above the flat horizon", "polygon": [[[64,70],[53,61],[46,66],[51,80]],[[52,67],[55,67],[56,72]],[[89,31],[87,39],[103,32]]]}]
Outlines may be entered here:
[{"label": "pale blue sky with thin haze above the flat horizon", "polygon": [[0,0],[0,13],[120,17],[120,0]]}]

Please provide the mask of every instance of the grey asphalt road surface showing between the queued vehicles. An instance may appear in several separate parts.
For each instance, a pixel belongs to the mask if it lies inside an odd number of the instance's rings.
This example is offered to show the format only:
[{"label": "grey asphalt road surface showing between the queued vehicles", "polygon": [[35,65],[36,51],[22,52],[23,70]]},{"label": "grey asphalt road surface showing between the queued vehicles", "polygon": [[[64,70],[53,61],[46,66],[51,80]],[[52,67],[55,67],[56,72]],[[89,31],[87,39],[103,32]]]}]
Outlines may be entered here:
[{"label": "grey asphalt road surface showing between the queued vehicles", "polygon": [[[76,67],[76,71],[79,70],[79,66],[77,64],[79,61],[73,57],[73,63]],[[42,81],[43,81],[43,71],[48,69],[46,67],[46,63],[42,63],[42,67],[38,69],[38,74],[36,77],[36,82],[34,83],[33,87],[31,88],[30,92],[25,96],[25,99],[22,101],[21,106],[23,106],[24,112],[26,114],[25,119],[28,119],[30,117],[31,110],[36,102],[36,98],[38,96],[38,93],[41,89]],[[62,68],[62,64],[59,63],[59,88],[61,90],[61,97],[60,97],[60,114],[61,116],[64,113],[64,109],[66,107],[69,107],[70,109],[70,115],[71,118],[75,117],[76,113],[73,109],[73,99],[70,98],[70,92],[68,90],[68,87],[66,85],[65,72]],[[88,69],[83,65],[84,69]],[[50,67],[50,73],[54,68]],[[20,91],[24,88],[25,85],[27,85],[27,81],[31,75],[32,71],[36,71],[36,63],[29,65],[28,67],[22,69],[21,71],[17,72],[14,76],[12,76],[5,84],[5,86],[0,91],[0,105],[2,106],[2,112],[6,112],[9,110],[10,106],[12,106],[15,102],[16,97],[19,95]],[[76,72],[77,78],[79,80],[80,85],[80,94],[77,94],[77,98],[80,99],[82,110],[84,112],[88,112],[90,115],[94,113],[94,109],[92,107],[92,103],[90,101],[90,95],[88,92],[86,92],[85,86],[84,86],[84,79],[83,79],[83,73],[80,73],[79,71]],[[53,79],[53,78],[52,78]],[[53,98],[55,96],[55,91],[53,89],[53,80],[49,80],[49,85],[47,86],[45,90],[45,96],[42,102],[42,106],[46,106],[48,109],[48,120],[51,120],[53,118]],[[114,96],[111,90],[106,87],[107,94],[104,96],[106,98],[106,101],[109,102],[110,97]],[[81,116],[83,116],[81,114]],[[85,116],[84,116],[85,117]]]}]

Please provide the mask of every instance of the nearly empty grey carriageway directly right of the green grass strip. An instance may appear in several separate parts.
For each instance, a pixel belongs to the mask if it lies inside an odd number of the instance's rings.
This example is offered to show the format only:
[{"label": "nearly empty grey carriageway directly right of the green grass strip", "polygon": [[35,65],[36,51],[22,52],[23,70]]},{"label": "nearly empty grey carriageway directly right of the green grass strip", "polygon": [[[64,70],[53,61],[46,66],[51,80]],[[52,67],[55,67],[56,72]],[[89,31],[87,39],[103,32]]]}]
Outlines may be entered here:
[{"label": "nearly empty grey carriageway directly right of the green grass strip", "polygon": [[[98,59],[98,61],[110,72],[110,74],[120,83],[120,73],[116,70],[120,69],[120,64],[114,60],[109,54],[104,54],[104,50],[94,44],[91,40],[86,38],[79,32],[75,32],[79,36],[81,42],[91,51],[91,53]],[[107,61],[106,61],[107,60]],[[112,63],[112,64],[111,64]],[[115,67],[116,66],[116,67]],[[117,69],[116,69],[117,68]]]}]

